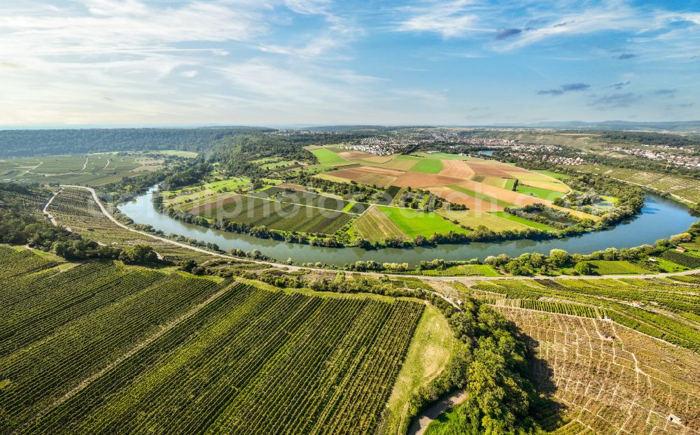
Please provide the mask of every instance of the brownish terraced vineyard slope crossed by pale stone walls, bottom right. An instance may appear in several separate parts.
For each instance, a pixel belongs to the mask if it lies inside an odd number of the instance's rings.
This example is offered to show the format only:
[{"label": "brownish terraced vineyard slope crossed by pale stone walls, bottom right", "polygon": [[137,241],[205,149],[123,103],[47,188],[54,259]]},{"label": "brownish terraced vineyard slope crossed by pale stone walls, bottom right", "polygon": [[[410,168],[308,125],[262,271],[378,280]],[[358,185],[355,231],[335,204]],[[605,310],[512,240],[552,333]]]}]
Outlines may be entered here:
[{"label": "brownish terraced vineyard slope crossed by pale stone walls, bottom right", "polygon": [[497,308],[525,334],[531,373],[571,420],[552,435],[700,434],[697,354],[615,322]]}]

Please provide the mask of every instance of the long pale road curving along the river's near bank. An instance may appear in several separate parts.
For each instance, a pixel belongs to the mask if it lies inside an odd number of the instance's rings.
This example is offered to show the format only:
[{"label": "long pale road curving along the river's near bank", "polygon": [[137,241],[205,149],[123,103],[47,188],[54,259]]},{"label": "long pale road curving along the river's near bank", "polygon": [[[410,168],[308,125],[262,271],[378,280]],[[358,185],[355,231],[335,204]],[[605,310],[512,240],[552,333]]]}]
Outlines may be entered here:
[{"label": "long pale road curving along the river's near bank", "polygon": [[[104,214],[114,224],[118,225],[118,227],[126,229],[127,231],[132,231],[134,233],[141,234],[142,236],[147,236],[149,238],[153,238],[154,240],[162,241],[165,243],[170,243],[171,245],[176,245],[176,246],[179,246],[180,248],[193,250],[195,252],[204,253],[207,255],[214,256],[214,257],[239,260],[238,257],[233,257],[231,255],[225,255],[225,254],[221,254],[219,252],[212,252],[210,250],[197,248],[195,246],[187,245],[185,243],[180,243],[180,242],[171,240],[169,238],[155,236],[154,234],[150,234],[150,233],[147,233],[145,231],[138,231],[137,229],[130,228],[127,225],[123,224],[122,222],[119,222],[118,220],[116,220],[116,218],[113,215],[111,215],[111,213],[109,213],[109,211],[107,211],[104,204],[102,204],[102,201],[100,201],[99,198],[97,197],[97,192],[95,192],[95,190],[92,187],[77,186],[77,185],[61,185],[61,187],[69,187],[71,189],[87,190],[88,192],[90,192],[90,194],[92,194],[92,199],[95,201],[95,203],[99,207],[100,211],[102,211],[102,214]],[[253,259],[246,259],[246,261],[251,262],[253,264],[266,264],[267,266],[272,266],[272,267],[277,267],[277,268],[287,268],[287,269],[292,270],[292,271],[301,270],[301,269],[311,270],[311,271],[325,271],[325,272],[337,271],[337,269],[318,269],[318,268],[313,268],[313,267],[291,266],[288,264],[281,264],[281,263],[276,263],[276,262],[264,262],[264,261],[253,260]],[[438,280],[438,281],[532,280],[535,278],[542,279],[542,280],[601,280],[601,279],[670,278],[672,276],[696,275],[697,273],[700,273],[700,269],[692,269],[689,271],[672,272],[672,273],[654,273],[654,274],[643,274],[643,275],[601,275],[601,276],[568,276],[568,275],[565,275],[565,276],[470,276],[470,277],[464,277],[464,276],[417,276],[417,275],[402,275],[400,273],[377,273],[377,272],[354,272],[354,273],[359,273],[359,274],[365,275],[365,276],[377,276],[377,277],[390,276],[393,278],[406,278],[408,276],[411,278],[419,278],[421,280],[426,280],[426,281],[433,281],[433,280]]]}]

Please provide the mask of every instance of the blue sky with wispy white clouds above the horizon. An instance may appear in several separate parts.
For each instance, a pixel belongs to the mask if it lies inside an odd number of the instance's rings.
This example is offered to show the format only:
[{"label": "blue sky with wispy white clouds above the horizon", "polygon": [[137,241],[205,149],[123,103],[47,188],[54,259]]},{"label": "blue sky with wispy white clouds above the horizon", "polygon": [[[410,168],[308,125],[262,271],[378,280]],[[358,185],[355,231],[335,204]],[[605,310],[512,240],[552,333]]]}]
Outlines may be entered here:
[{"label": "blue sky with wispy white clouds above the horizon", "polygon": [[700,0],[0,0],[0,124],[700,120]]}]

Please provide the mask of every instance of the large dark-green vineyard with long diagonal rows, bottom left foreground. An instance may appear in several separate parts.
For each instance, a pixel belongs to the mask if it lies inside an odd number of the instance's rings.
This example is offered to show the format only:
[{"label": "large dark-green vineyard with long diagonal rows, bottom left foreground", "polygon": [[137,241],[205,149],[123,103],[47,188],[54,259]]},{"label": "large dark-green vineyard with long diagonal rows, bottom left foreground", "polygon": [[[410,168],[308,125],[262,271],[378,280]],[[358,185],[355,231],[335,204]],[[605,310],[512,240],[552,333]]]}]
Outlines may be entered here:
[{"label": "large dark-green vineyard with long diagonal rows, bottom left foreground", "polygon": [[[0,247],[3,269],[21,252]],[[370,433],[423,312],[33,262],[2,280],[2,433]]]}]

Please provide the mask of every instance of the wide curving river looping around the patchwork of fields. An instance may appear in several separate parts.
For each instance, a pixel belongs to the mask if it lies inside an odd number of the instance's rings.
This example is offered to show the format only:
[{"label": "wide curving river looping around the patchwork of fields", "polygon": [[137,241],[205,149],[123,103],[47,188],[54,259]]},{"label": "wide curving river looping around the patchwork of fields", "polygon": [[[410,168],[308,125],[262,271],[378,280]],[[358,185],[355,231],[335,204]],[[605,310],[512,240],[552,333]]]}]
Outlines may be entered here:
[{"label": "wide curving river looping around the patchwork of fields", "polygon": [[153,190],[136,199],[120,204],[122,213],[129,216],[138,224],[149,224],[165,234],[180,234],[197,240],[216,243],[224,250],[239,248],[244,251],[258,249],[264,255],[285,261],[288,258],[295,262],[323,262],[326,264],[343,264],[358,260],[391,263],[408,263],[415,266],[422,260],[447,259],[468,260],[484,259],[489,255],[505,253],[517,257],[523,252],[540,252],[547,254],[554,248],[563,249],[570,253],[588,254],[605,248],[633,248],[645,243],[652,244],[659,238],[668,238],[673,234],[685,231],[697,218],[689,208],[671,199],[656,194],[647,194],[642,214],[638,217],[617,225],[607,231],[596,231],[578,237],[552,239],[546,241],[505,241],[499,243],[473,242],[464,245],[439,245],[433,248],[386,248],[379,250],[364,250],[361,248],[324,248],[321,246],[301,245],[272,241],[247,234],[235,234],[218,229],[200,227],[195,224],[181,222],[160,213],[153,202]]}]

